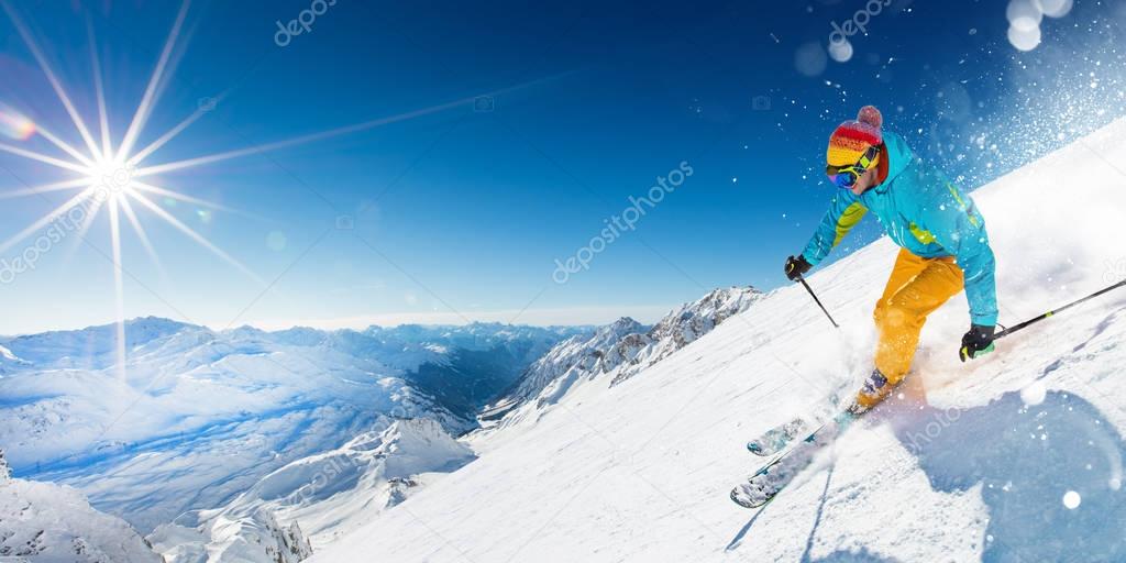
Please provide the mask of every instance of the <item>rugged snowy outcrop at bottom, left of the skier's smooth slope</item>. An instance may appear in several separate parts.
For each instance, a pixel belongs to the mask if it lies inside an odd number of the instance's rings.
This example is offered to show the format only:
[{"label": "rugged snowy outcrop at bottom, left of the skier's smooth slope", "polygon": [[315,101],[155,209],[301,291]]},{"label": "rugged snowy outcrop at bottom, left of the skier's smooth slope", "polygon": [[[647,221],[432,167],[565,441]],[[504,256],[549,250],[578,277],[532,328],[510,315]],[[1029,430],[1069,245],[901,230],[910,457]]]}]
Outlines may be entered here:
[{"label": "rugged snowy outcrop at bottom, left of the skier's smooth slope", "polygon": [[211,563],[269,563],[286,552],[269,540],[278,530],[301,538],[287,546],[307,535],[320,548],[475,457],[430,419],[384,420],[381,428],[270,473],[222,509],[159,526],[149,540],[169,563],[203,554]]}]

